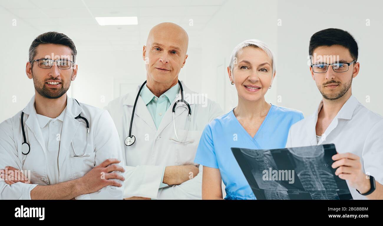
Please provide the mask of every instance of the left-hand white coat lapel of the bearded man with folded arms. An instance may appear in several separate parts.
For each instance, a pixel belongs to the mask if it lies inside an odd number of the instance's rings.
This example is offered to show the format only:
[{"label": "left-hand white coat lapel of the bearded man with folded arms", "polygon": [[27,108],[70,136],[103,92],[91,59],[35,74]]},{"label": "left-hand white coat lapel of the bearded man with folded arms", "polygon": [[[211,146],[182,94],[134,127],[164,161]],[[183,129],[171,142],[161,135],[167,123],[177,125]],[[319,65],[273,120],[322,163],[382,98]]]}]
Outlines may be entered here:
[{"label": "left-hand white coat lapel of the bearded man with folded arms", "polygon": [[[28,105],[23,109],[23,112],[24,112],[24,121],[25,121],[25,125],[26,127],[28,127],[34,137],[36,138],[36,140],[39,142],[41,148],[43,149],[44,151],[44,154],[46,154],[46,148],[45,148],[45,142],[44,142],[44,139],[43,139],[43,134],[41,133],[41,128],[39,126],[39,122],[37,120],[37,117],[36,117],[36,109],[34,108],[34,96],[32,97],[31,101],[29,101]],[[26,116],[28,115],[28,118],[26,119]],[[26,130],[26,128],[25,128]],[[25,131],[25,133],[27,133]],[[31,137],[28,137],[27,138],[27,141],[28,139],[31,139]],[[32,148],[32,147],[31,147]]]}]

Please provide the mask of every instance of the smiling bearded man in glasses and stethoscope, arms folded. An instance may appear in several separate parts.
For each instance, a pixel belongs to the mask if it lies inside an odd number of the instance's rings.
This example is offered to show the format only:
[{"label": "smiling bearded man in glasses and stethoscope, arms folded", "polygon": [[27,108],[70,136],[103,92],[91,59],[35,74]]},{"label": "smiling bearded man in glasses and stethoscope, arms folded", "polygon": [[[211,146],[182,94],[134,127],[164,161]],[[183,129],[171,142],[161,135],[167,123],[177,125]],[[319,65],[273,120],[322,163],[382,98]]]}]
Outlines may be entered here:
[{"label": "smiling bearded man in glasses and stethoscope, arms folded", "polygon": [[62,33],[32,42],[26,75],[35,95],[0,124],[0,200],[123,198],[124,162],[113,120],[67,97],[76,55]]}]

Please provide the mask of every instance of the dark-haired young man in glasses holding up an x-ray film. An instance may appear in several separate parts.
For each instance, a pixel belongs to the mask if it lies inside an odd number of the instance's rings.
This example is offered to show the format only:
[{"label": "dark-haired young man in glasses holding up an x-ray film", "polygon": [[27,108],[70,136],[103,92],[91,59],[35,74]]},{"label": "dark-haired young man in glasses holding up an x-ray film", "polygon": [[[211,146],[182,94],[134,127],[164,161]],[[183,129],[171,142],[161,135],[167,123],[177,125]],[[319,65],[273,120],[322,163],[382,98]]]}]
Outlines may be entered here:
[{"label": "dark-haired young man in glasses holding up an x-ray film", "polygon": [[[383,118],[352,96],[359,73],[358,45],[347,31],[329,28],[311,36],[310,72],[322,101],[311,117],[290,128],[286,147],[334,143],[335,174],[354,199],[383,199]],[[325,191],[324,191],[325,192]]]}]

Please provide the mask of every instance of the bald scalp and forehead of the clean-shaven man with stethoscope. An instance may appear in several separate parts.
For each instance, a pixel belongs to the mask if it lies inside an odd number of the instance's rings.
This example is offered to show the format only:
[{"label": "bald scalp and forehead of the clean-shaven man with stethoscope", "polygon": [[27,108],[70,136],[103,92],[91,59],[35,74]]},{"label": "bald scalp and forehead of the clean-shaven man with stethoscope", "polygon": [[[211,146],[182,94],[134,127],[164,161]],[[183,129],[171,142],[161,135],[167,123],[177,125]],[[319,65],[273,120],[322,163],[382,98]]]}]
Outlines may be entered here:
[{"label": "bald scalp and forehead of the clean-shaven man with stethoscope", "polygon": [[150,31],[146,40],[146,46],[151,46],[156,40],[168,39],[177,44],[182,50],[181,54],[186,54],[189,45],[189,36],[186,31],[175,23],[165,22],[155,25]]}]

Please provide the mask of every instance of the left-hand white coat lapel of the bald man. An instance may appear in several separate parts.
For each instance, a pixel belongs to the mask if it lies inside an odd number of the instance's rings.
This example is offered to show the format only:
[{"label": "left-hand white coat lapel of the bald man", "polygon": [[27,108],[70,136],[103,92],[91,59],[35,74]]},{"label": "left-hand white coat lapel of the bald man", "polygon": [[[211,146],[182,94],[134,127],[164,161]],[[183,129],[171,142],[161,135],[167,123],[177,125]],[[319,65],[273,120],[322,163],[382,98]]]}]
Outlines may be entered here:
[{"label": "left-hand white coat lapel of the bald man", "polygon": [[[131,106],[132,109],[133,109],[134,101],[136,100],[136,96],[137,96],[137,93],[139,91],[139,87],[140,86],[137,87],[136,91],[129,93],[128,97],[124,101],[124,105]],[[134,114],[137,117],[139,117],[142,120],[144,120],[144,122],[147,125],[149,125],[149,127],[151,127],[153,130],[156,130],[155,124],[154,124],[154,120],[152,119],[152,115],[150,114],[149,110],[147,109],[147,107],[146,107],[144,101],[142,100],[141,96],[139,96],[138,99],[137,99],[137,104],[136,104],[136,109],[134,110]],[[134,120],[137,120],[137,119],[134,118],[133,119],[133,123],[134,123]],[[129,119],[129,122],[130,122],[130,119]]]}]

